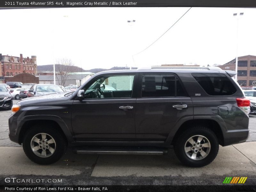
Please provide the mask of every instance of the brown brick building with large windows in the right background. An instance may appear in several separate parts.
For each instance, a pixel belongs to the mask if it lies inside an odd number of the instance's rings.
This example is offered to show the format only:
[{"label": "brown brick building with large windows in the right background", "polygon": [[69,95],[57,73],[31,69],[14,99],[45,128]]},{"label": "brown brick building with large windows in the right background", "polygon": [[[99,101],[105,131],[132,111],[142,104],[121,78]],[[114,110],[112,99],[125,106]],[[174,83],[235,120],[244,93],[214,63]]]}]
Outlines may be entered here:
[{"label": "brown brick building with large windows in the right background", "polygon": [[[223,70],[235,70],[236,59],[218,67]],[[241,86],[256,86],[256,56],[238,57],[237,82]]]}]

